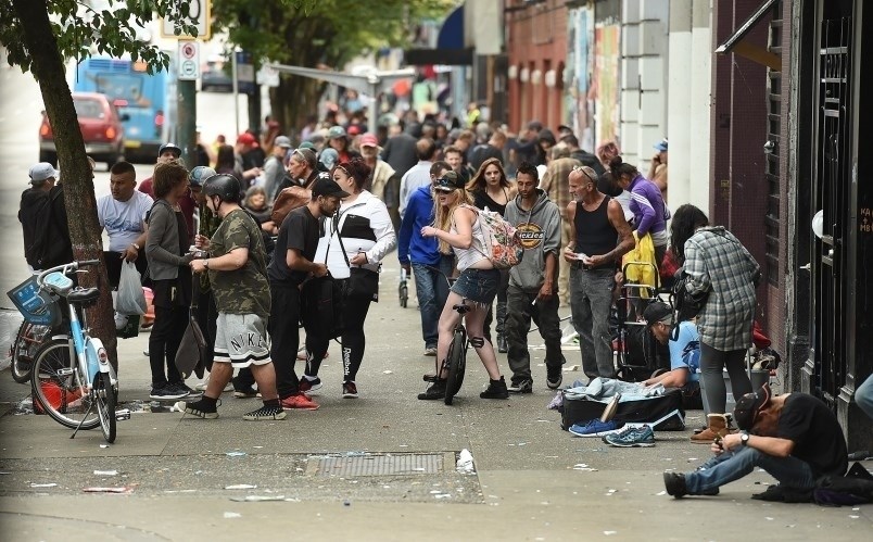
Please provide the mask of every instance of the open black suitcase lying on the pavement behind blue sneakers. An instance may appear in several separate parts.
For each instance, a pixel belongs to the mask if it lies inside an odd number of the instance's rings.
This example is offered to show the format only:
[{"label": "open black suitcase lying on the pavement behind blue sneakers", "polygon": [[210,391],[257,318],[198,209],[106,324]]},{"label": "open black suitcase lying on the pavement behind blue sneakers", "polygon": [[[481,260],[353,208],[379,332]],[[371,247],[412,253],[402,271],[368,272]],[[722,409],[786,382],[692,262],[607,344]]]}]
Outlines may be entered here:
[{"label": "open black suitcase lying on the pavement behind blue sneakers", "polygon": [[[566,392],[560,407],[560,427],[565,431],[574,424],[599,418],[609,400],[568,399]],[[685,429],[685,408],[682,390],[671,388],[663,395],[621,401],[612,419],[624,423],[653,423],[656,431],[682,431]]]}]

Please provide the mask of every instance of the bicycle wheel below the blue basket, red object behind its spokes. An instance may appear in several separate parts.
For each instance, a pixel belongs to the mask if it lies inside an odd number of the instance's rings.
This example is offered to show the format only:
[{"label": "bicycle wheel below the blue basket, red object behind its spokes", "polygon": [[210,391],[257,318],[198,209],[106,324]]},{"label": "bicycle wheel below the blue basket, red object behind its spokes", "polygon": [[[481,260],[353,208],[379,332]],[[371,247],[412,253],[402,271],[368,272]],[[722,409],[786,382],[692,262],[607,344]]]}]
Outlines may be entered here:
[{"label": "bicycle wheel below the blue basket, red object behind its spokes", "polygon": [[79,424],[81,429],[93,429],[100,425],[97,409],[91,407],[93,395],[85,393],[85,382],[77,381],[76,356],[71,354],[69,343],[63,339],[39,349],[30,375],[34,409],[71,429]]}]

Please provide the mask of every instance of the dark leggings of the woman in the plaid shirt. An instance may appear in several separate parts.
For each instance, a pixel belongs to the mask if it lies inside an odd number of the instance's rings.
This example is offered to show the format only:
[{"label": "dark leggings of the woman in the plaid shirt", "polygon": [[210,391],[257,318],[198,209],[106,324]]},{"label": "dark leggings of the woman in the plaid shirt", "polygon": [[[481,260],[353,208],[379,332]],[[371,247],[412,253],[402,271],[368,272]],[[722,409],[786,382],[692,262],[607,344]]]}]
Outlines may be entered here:
[{"label": "dark leggings of the woman in the plaid shirt", "polygon": [[728,389],[724,387],[722,368],[726,368],[731,377],[734,401],[739,401],[746,393],[751,393],[751,381],[746,374],[746,349],[723,351],[700,342],[700,378],[710,414],[724,414],[728,404]]}]

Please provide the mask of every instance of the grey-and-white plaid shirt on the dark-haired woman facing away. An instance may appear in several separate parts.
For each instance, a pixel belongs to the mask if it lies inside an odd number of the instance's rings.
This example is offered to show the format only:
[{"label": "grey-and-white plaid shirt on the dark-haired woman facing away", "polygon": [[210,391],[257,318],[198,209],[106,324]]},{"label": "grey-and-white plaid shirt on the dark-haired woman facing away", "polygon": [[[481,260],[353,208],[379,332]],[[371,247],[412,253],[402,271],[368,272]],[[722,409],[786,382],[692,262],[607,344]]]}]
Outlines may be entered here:
[{"label": "grey-and-white plaid shirt on the dark-haired woman facing away", "polygon": [[751,254],[722,226],[700,228],[685,242],[686,288],[692,294],[709,291],[697,315],[701,342],[721,351],[751,345],[752,280],[759,270]]}]

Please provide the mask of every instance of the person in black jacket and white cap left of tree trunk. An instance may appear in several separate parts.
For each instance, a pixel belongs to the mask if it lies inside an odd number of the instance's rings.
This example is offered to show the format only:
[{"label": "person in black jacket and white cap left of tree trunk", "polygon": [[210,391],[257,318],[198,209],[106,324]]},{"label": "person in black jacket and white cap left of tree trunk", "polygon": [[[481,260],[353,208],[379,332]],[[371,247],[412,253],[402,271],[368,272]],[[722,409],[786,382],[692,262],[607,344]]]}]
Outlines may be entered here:
[{"label": "person in black jacket and white cap left of tree trunk", "polygon": [[30,188],[22,192],[18,222],[24,234],[24,257],[34,269],[47,269],[73,261],[69,226],[58,171],[40,162],[28,172]]}]

